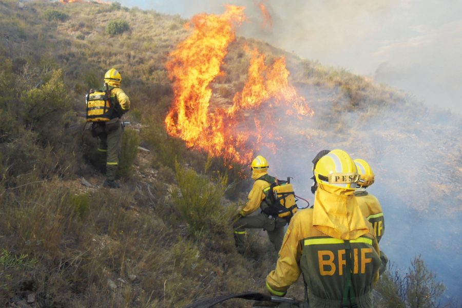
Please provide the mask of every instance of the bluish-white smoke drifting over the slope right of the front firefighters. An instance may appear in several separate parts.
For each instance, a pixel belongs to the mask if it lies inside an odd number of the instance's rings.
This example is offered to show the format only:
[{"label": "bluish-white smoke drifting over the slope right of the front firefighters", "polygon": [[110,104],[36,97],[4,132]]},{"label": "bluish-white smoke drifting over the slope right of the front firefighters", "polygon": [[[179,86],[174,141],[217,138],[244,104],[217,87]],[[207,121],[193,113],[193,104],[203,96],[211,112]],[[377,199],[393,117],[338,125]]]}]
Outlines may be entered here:
[{"label": "bluish-white smoke drifting over the slope right of the front firefighters", "polygon": [[[314,100],[329,105],[326,97],[329,93]],[[360,112],[339,114],[333,124],[325,121],[330,106],[313,105],[315,116],[296,125],[305,136],[295,130],[283,133],[285,142],[276,152],[261,154],[266,155],[270,174],[293,177],[296,194],[310,203],[311,161],[319,150],[340,148],[353,159],[367,161],[376,179],[368,191],[380,200],[386,220],[381,250],[401,274],[415,256],[422,255],[437,280],[445,283],[446,294],[460,301],[462,174],[454,169],[462,165],[462,119],[426,112],[413,99],[402,104],[399,112],[381,110],[367,119]],[[302,201],[298,204],[304,206]]]}]

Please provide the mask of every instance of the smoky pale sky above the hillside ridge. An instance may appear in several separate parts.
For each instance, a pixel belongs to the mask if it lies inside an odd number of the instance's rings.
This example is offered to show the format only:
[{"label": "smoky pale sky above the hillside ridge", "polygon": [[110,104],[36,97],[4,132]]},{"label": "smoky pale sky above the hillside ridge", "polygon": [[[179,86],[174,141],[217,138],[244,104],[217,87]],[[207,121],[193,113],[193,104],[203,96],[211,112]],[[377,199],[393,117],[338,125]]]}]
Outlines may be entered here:
[{"label": "smoky pale sky above the hillside ridge", "polygon": [[[262,2],[272,16],[263,27]],[[238,34],[304,59],[373,77],[427,106],[462,114],[462,2],[459,0],[121,1],[190,18],[245,6]]]}]

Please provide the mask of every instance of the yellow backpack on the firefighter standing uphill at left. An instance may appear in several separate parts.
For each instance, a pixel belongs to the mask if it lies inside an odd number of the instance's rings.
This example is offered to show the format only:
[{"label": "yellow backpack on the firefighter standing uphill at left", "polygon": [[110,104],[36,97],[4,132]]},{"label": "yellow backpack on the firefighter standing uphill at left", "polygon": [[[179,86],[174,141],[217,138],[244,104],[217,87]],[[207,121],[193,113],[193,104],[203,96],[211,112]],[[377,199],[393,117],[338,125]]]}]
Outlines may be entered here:
[{"label": "yellow backpack on the firefighter standing uphill at left", "polygon": [[106,90],[90,90],[86,96],[87,122],[107,122],[112,118],[114,104],[108,84]]}]

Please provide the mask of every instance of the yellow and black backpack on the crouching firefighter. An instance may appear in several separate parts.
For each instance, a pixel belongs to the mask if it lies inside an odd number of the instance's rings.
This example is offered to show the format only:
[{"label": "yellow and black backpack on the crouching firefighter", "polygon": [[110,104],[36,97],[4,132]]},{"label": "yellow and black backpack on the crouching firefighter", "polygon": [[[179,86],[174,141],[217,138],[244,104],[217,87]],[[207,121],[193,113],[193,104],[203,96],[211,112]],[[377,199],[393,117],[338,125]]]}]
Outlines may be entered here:
[{"label": "yellow and black backpack on the crouching firefighter", "polygon": [[272,176],[264,175],[258,180],[270,183],[268,187],[263,189],[265,195],[261,204],[263,213],[290,220],[298,209],[290,178],[287,178],[287,181],[281,181]]}]

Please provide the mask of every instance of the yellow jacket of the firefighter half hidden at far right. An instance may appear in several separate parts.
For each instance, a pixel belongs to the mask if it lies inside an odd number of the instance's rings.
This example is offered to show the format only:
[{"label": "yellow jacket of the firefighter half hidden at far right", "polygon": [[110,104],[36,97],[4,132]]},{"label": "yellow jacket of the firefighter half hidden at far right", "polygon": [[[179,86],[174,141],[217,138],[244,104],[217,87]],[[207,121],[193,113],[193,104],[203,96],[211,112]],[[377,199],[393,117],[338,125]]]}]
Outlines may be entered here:
[{"label": "yellow jacket of the firefighter half hidden at far right", "polygon": [[365,188],[357,189],[355,197],[362,215],[372,224],[377,242],[380,242],[385,233],[385,219],[380,202],[375,196],[369,194]]}]

